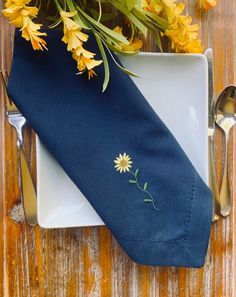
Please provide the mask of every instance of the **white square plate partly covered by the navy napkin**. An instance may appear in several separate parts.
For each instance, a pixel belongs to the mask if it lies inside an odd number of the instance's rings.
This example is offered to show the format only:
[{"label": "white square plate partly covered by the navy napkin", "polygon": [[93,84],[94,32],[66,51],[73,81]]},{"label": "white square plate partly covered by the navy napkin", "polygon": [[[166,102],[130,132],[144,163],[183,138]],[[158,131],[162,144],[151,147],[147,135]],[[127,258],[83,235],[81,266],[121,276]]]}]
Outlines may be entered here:
[{"label": "white square plate partly covered by the navy napkin", "polygon": [[[140,53],[120,57],[134,82],[208,182],[208,74],[203,55]],[[88,98],[89,100],[89,98]],[[63,169],[37,139],[38,222],[43,228],[103,225]]]}]

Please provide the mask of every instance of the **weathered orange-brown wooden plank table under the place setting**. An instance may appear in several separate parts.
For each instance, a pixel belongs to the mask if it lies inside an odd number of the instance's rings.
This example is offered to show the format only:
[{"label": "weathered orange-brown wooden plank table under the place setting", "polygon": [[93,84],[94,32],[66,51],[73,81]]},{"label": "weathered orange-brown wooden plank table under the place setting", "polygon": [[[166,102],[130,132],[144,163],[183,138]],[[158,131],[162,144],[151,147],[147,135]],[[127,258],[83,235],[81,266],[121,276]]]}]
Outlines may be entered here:
[{"label": "weathered orange-brown wooden plank table under the place setting", "polygon": [[[0,8],[2,8],[2,1]],[[221,0],[209,13],[194,1],[187,10],[201,25],[205,47],[214,49],[215,92],[235,82],[236,1]],[[1,68],[10,69],[13,30],[0,16]],[[154,50],[152,39],[145,50]],[[2,91],[2,90],[1,90]],[[2,95],[2,93],[1,93]],[[230,217],[212,227],[202,269],[158,268],[133,263],[106,227],[43,230],[22,216],[17,179],[16,135],[0,98],[0,296],[136,297],[236,296],[236,187]],[[236,129],[231,135],[232,186],[236,183]],[[232,137],[234,134],[234,137]],[[234,138],[234,140],[233,140]],[[26,133],[27,155],[35,174],[35,137]],[[216,136],[218,179],[222,173],[222,136]],[[35,175],[34,175],[35,178]]]}]

